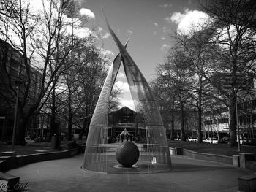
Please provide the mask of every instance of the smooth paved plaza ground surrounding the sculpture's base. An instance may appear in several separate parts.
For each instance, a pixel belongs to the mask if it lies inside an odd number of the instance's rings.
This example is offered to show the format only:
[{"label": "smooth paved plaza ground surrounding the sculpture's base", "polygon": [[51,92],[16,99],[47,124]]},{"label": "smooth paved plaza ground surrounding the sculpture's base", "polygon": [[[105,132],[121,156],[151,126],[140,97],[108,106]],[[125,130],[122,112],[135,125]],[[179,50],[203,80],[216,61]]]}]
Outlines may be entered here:
[{"label": "smooth paved plaza ground surrounding the sculpture's base", "polygon": [[29,191],[238,191],[238,177],[252,174],[226,164],[172,155],[173,170],[157,174],[106,174],[81,169],[83,154],[12,169]]}]

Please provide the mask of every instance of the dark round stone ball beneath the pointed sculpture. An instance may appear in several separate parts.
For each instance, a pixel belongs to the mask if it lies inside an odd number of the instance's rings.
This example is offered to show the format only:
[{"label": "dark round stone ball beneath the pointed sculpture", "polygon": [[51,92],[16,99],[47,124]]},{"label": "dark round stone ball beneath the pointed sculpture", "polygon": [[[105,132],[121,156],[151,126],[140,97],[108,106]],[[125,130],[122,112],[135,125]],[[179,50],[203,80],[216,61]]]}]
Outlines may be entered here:
[{"label": "dark round stone ball beneath the pointed sculpture", "polygon": [[140,151],[133,142],[124,142],[117,147],[116,160],[122,166],[129,167],[136,164],[140,157]]}]

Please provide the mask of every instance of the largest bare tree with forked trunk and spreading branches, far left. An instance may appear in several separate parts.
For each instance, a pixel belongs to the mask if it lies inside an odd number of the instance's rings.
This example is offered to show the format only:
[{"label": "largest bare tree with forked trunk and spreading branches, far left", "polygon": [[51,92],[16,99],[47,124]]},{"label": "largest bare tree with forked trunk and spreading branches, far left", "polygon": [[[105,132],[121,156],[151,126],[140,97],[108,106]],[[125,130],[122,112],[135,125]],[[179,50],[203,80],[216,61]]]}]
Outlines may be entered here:
[{"label": "largest bare tree with forked trunk and spreading branches, far left", "polygon": [[[21,54],[23,72],[18,80],[23,82],[22,94],[18,97],[18,135],[17,144],[25,144],[25,132],[29,120],[39,112],[54,88],[61,74],[64,58],[72,52],[75,45],[64,38],[64,12],[68,0],[42,1],[42,12],[34,12],[29,1],[1,1],[1,39],[12,45]],[[65,47],[64,47],[65,45]],[[32,68],[40,72],[37,93],[28,104],[32,80]],[[7,74],[10,77],[10,74]],[[37,80],[38,81],[38,80]],[[12,98],[17,97],[13,80],[9,81]],[[12,99],[12,102],[15,99]]]}]

